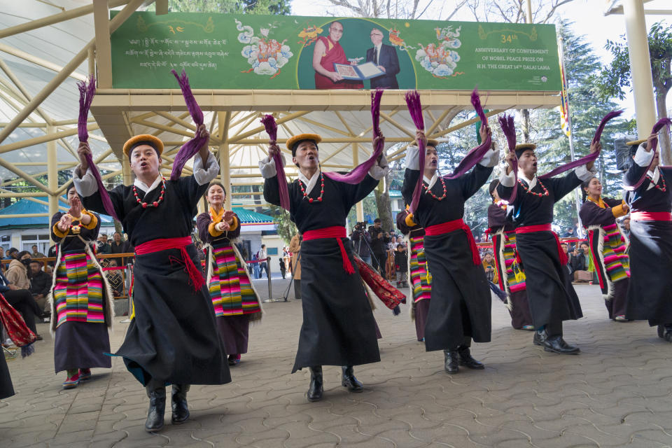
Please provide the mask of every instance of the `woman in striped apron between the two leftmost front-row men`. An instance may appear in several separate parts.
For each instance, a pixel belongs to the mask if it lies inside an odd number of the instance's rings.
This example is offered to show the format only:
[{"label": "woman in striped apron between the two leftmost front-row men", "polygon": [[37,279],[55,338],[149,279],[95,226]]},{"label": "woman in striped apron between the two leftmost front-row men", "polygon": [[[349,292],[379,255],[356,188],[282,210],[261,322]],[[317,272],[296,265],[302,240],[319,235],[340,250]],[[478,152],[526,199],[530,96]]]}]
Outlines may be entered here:
[{"label": "woman in striped apron between the two leftmost front-row men", "polygon": [[229,365],[237,365],[241,353],[247,353],[250,321],[261,318],[261,302],[244,258],[233,242],[240,236],[240,221],[234,212],[224,210],[224,186],[211,183],[206,197],[210,209],[196,218],[198,236],[209,243],[207,282],[217,328],[229,355]]}]

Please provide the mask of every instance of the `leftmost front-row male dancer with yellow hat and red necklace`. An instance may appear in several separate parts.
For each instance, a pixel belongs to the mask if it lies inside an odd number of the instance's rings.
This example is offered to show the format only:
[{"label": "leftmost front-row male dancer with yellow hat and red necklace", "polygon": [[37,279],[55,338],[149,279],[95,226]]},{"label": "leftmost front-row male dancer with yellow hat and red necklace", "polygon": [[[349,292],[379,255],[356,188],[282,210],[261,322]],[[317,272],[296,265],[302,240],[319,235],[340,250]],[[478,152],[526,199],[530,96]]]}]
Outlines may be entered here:
[{"label": "leftmost front-row male dancer with yellow hat and red necklace", "polygon": [[[208,136],[204,125],[196,134]],[[193,176],[167,181],[159,171],[160,139],[137,135],[123,149],[136,179],[132,186],[117,186],[108,193],[136,258],[132,320],[116,356],[123,356],[127,369],[146,386],[150,406],[145,429],[155,432],[163,427],[166,384],[173,385],[172,423],[183,423],[189,418],[190,384],[231,381],[190,237],[196,204],[219,166],[206,141],[194,159]],[[87,209],[106,213],[85,158],[90,151],[88,144],[80,143],[74,183]]]}]

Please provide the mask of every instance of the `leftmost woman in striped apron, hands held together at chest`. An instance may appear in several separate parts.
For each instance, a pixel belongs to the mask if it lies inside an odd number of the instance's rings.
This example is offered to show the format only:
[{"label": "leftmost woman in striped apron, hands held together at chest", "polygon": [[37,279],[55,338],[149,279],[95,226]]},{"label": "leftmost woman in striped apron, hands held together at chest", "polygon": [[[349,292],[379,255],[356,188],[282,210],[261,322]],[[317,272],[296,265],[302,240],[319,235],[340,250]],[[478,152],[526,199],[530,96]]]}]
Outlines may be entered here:
[{"label": "leftmost woman in striped apron, hands held together at chest", "polygon": [[85,210],[75,186],[67,190],[70,209],[51,218],[51,238],[59,245],[49,295],[51,330],[55,332],[56,373],[67,371],[63,388],[77,387],[91,377],[91,367],[112,367],[109,328],[113,295],[92,244],[100,218]]}]

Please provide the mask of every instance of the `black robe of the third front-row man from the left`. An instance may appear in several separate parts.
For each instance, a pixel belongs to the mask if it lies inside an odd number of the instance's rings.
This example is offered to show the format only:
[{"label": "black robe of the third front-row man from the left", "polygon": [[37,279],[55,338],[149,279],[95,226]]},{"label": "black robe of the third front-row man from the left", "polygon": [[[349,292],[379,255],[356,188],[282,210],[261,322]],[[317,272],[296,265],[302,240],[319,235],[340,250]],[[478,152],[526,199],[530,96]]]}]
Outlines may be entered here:
[{"label": "black robe of the third front-row man from the left", "polygon": [[[488,180],[492,167],[476,165],[468,174],[444,181],[447,195],[435,200],[425,190],[420,196],[414,221],[421,227],[455,221],[464,216],[464,202]],[[413,190],[422,172],[406,169],[401,193],[412,202]],[[443,195],[440,179],[431,189]],[[432,300],[425,325],[426,351],[456,349],[465,337],[490,342],[490,288],[482,265],[475,265],[467,235],[463,230],[443,235],[425,235],[425,257],[432,273]]]}]

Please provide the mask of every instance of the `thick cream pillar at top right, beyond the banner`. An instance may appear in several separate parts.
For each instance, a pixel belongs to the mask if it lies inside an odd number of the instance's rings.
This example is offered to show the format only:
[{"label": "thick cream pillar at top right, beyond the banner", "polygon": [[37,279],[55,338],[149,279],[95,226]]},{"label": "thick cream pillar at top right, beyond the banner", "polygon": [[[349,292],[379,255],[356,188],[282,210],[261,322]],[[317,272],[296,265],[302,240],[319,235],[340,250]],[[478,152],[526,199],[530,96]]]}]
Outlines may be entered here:
[{"label": "thick cream pillar at top right, beyond the banner", "polygon": [[645,139],[656,123],[651,58],[642,0],[623,0],[625,31],[628,38],[632,90],[635,97],[637,134]]}]

